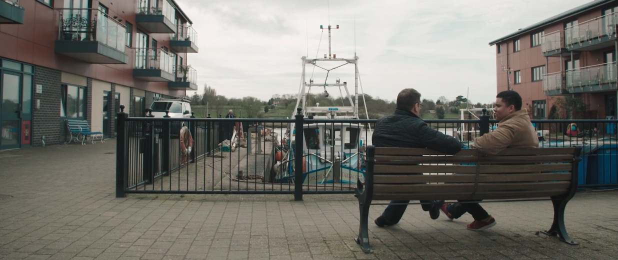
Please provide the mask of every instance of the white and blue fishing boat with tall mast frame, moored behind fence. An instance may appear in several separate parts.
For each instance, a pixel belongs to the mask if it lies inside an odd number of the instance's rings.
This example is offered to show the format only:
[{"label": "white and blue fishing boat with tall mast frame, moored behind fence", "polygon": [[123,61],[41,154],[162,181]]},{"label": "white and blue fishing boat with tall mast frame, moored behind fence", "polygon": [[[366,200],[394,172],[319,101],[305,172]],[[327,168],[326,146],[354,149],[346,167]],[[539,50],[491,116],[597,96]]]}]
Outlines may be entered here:
[{"label": "white and blue fishing boat with tall mast frame, moored behind fence", "polygon": [[[324,54],[324,58],[308,59],[302,57],[302,79],[298,89],[297,103],[295,107],[300,107],[300,113],[305,119],[316,119],[320,122],[303,125],[303,183],[304,184],[326,184],[326,183],[356,183],[359,176],[364,176],[362,168],[363,153],[366,147],[366,141],[363,140],[365,127],[361,124],[349,122],[345,120],[358,119],[358,56],[356,52],[352,59],[337,58],[336,54],[331,54],[331,30],[339,29],[331,28],[328,25],[328,56]],[[319,64],[319,65],[318,65]],[[326,79],[317,80],[309,78],[307,80],[308,66],[315,66],[320,69],[331,70],[345,67],[345,65],[354,65],[354,92],[350,94],[347,88],[347,82],[341,82],[338,78],[331,79],[329,82],[328,73]],[[332,66],[329,66],[332,65]],[[349,66],[348,66],[349,67]],[[332,69],[326,69],[332,68]],[[351,76],[351,73],[350,73]],[[323,83],[322,83],[323,82]],[[320,106],[319,103],[309,104],[307,97],[310,94],[311,88],[315,90],[324,89],[324,96],[329,95],[328,89],[339,88],[342,98],[342,106]],[[342,91],[344,90],[344,91]],[[345,93],[345,95],[343,94]],[[345,105],[347,101],[348,104]],[[364,100],[364,96],[363,96]],[[364,102],[363,102],[364,104]],[[366,112],[366,106],[365,106]],[[292,112],[292,118],[297,114],[297,111]],[[366,113],[365,113],[366,114]],[[328,122],[332,121],[332,122]],[[284,156],[279,156],[280,159],[276,166],[277,182],[292,183],[294,182],[294,137],[297,133],[294,130],[295,125],[289,125],[289,135],[284,138],[287,143],[286,148],[282,151]],[[349,185],[348,185],[349,186]]]}]

